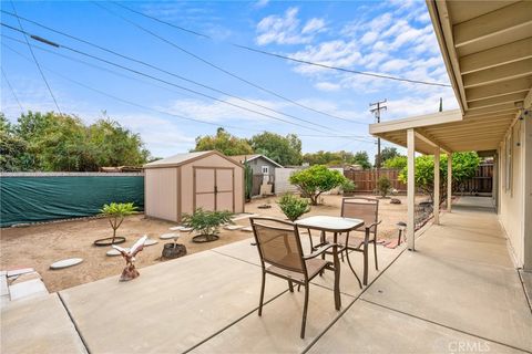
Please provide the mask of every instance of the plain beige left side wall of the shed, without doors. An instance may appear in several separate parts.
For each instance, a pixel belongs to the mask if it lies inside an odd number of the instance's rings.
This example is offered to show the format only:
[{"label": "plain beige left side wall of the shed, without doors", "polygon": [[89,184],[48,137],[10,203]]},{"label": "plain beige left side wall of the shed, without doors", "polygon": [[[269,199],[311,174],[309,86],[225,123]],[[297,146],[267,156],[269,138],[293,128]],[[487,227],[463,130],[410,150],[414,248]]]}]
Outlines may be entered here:
[{"label": "plain beige left side wall of the shed, without doors", "polygon": [[177,167],[146,169],[144,189],[146,216],[178,221]]}]

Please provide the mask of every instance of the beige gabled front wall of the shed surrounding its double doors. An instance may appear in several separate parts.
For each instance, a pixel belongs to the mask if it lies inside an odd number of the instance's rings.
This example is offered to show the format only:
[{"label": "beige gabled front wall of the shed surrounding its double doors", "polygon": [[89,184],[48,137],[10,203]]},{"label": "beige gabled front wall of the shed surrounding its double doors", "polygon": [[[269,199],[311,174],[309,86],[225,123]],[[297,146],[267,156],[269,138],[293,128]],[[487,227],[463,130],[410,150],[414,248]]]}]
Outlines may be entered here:
[{"label": "beige gabled front wall of the shed surrounding its double doors", "polygon": [[244,170],[234,163],[217,155],[191,162],[181,166],[181,212],[194,211],[194,166],[195,167],[231,167],[235,170],[235,212],[244,212]]}]

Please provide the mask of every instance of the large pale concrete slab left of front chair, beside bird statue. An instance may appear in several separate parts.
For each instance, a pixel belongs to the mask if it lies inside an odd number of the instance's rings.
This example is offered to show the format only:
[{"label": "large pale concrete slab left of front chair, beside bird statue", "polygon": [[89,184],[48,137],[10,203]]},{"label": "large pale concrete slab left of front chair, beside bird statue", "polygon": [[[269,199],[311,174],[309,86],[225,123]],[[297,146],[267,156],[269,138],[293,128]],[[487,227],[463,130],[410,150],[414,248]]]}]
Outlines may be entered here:
[{"label": "large pale concrete slab left of front chair, beside bird statue", "polygon": [[[183,352],[258,305],[257,267],[205,251],[61,291],[92,353]],[[269,279],[266,300],[288,288]]]}]

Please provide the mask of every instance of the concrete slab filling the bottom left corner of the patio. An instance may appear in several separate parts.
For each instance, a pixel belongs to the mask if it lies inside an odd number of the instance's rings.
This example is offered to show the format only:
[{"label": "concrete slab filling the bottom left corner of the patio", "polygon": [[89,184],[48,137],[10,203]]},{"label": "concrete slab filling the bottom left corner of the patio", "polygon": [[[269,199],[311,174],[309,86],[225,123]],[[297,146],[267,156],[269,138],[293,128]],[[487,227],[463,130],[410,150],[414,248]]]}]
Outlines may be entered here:
[{"label": "concrete slab filling the bottom left corner of the patio", "polygon": [[58,294],[2,306],[2,353],[86,353]]}]

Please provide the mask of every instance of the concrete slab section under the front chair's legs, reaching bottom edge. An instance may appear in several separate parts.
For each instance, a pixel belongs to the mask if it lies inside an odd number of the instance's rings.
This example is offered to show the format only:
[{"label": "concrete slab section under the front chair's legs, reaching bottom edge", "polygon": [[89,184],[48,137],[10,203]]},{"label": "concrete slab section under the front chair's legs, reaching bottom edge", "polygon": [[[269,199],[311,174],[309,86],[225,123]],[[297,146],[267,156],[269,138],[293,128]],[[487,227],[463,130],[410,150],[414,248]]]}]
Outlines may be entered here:
[{"label": "concrete slab section under the front chair's legs, reaching bottom edge", "polygon": [[[344,306],[352,301],[345,295],[341,300]],[[339,315],[332,291],[311,285],[306,335],[301,340],[303,304],[303,290],[284,293],[264,306],[262,316],[250,313],[192,353],[300,353]]]}]

